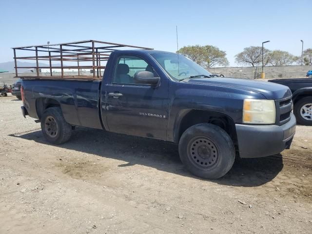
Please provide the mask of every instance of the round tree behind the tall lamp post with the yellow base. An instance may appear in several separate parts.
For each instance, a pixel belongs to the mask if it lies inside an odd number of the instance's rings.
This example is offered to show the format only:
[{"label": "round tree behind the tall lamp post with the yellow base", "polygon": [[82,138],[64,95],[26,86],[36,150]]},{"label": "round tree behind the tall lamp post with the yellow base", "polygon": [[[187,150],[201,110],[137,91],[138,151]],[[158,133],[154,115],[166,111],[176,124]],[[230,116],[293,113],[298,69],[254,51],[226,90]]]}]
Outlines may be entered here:
[{"label": "round tree behind the tall lamp post with the yellow base", "polygon": [[[267,65],[270,62],[270,50],[263,49],[263,65]],[[235,55],[235,62],[238,64],[248,64],[257,66],[262,63],[262,47],[250,46],[244,48],[244,50]]]}]

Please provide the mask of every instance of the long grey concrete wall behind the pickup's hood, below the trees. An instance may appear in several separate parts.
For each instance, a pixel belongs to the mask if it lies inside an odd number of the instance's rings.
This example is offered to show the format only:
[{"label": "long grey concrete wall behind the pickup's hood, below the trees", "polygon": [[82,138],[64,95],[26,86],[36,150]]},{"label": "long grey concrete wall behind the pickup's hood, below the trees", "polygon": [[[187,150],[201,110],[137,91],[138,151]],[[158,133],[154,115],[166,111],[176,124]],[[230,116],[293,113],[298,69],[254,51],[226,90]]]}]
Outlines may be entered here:
[{"label": "long grey concrete wall behind the pickup's hood, below the trees", "polygon": [[[305,78],[312,66],[265,66],[265,78]],[[225,77],[257,79],[260,78],[262,67],[215,67],[213,74],[223,74]]]}]

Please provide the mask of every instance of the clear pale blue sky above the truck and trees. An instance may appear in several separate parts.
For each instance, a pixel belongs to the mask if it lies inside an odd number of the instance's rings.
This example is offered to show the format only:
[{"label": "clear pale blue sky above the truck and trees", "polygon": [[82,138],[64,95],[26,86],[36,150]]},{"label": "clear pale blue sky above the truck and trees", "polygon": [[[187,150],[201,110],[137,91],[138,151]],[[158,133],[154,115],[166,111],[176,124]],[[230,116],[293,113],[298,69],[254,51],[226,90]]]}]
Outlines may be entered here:
[{"label": "clear pale blue sky above the truck and trees", "polygon": [[301,55],[312,48],[312,0],[3,0],[0,62],[11,47],[102,40],[176,52],[214,45],[234,56],[248,46]]}]

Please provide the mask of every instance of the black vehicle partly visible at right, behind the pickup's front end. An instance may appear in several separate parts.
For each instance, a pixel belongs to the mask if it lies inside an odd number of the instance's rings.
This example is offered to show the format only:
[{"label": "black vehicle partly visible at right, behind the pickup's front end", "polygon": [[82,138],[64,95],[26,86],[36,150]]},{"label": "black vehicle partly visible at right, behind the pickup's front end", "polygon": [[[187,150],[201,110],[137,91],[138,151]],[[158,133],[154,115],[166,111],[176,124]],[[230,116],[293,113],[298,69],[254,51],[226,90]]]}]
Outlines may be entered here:
[{"label": "black vehicle partly visible at right, behind the pickup's front end", "polygon": [[312,78],[271,79],[269,82],[289,87],[292,91],[293,113],[297,122],[302,125],[312,125]]}]

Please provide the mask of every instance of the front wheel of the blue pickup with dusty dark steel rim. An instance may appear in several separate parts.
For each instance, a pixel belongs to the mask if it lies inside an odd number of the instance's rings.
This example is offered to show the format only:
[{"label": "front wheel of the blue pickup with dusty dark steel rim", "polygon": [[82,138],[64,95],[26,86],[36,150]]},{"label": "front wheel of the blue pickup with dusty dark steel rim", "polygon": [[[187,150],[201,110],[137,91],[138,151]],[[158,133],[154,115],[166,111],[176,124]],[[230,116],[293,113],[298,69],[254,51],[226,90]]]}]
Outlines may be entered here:
[{"label": "front wheel of the blue pickup with dusty dark steel rim", "polygon": [[217,179],[232,168],[235,147],[223,129],[214,124],[200,123],[182,134],[179,155],[184,166],[195,176]]}]

